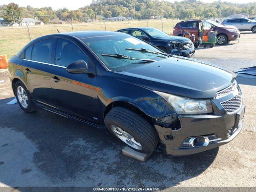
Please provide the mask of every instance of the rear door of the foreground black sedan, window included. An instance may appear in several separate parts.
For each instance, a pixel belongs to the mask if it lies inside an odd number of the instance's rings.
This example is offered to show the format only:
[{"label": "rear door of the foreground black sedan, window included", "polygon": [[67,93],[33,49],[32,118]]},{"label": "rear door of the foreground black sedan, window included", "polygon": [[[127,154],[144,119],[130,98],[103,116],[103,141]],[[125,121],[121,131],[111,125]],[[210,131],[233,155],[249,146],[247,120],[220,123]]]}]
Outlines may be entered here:
[{"label": "rear door of the foreground black sedan, window included", "polygon": [[24,75],[28,90],[36,102],[52,106],[50,66],[52,38],[40,40],[25,50]]}]

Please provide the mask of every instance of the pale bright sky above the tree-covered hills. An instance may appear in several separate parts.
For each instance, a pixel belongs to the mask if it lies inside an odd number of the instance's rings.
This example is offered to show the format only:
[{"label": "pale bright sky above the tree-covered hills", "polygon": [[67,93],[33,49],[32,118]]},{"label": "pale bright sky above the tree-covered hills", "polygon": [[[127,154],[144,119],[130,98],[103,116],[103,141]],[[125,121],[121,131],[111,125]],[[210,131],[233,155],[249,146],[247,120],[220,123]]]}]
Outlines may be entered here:
[{"label": "pale bright sky above the tree-covered hills", "polygon": [[[168,0],[170,2],[174,1],[182,1],[182,0]],[[216,0],[201,0],[202,2],[214,2]],[[256,2],[256,0],[222,0],[226,2],[233,2],[233,3],[248,3],[248,2]],[[69,10],[75,10],[80,7],[89,5],[92,0],[72,0],[70,3],[69,0],[1,0],[0,5],[8,4],[10,2],[14,2],[19,6],[26,7],[30,5],[34,8],[41,8],[41,7],[52,7],[53,10],[57,10],[58,8],[68,8]]]}]

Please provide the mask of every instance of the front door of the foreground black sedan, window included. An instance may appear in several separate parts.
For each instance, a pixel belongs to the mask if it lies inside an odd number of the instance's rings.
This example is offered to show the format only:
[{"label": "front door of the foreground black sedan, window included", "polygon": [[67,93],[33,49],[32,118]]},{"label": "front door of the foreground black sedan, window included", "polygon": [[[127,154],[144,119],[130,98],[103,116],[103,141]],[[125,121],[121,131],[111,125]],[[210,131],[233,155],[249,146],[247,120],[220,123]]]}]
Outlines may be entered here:
[{"label": "front door of the foreground black sedan, window included", "polygon": [[55,107],[67,114],[97,122],[98,98],[96,75],[71,74],[66,67],[84,60],[89,67],[94,63],[73,41],[56,39],[55,64],[51,66],[51,87]]}]

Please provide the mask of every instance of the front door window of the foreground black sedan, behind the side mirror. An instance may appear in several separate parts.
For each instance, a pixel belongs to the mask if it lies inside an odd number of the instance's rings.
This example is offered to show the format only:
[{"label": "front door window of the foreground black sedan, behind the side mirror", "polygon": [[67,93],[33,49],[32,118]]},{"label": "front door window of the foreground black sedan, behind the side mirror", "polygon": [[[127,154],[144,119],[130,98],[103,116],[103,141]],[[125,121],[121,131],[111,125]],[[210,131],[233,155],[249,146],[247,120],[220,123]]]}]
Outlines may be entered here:
[{"label": "front door window of the foreground black sedan, behind the side mirror", "polygon": [[84,60],[88,63],[88,56],[70,40],[58,39],[55,52],[55,64],[66,67],[78,60]]}]

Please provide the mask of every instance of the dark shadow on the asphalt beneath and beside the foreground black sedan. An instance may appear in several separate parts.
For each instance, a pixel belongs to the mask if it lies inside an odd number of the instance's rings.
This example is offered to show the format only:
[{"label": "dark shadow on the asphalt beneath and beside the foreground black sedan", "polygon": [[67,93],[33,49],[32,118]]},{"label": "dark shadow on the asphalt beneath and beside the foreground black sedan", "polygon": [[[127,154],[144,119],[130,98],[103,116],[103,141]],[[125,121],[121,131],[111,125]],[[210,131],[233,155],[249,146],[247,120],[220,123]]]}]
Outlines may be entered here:
[{"label": "dark shadow on the asphalt beneath and beside the foreground black sedan", "polygon": [[27,114],[6,104],[12,99],[0,100],[0,182],[8,186],[167,188],[202,174],[218,154],[218,148],[176,157],[155,151],[140,162],[122,155],[124,144],[104,129],[40,109]]}]

